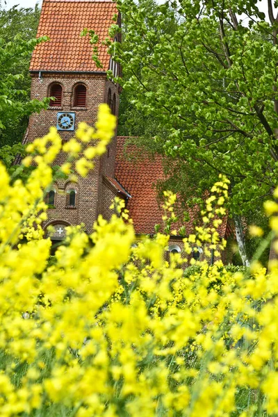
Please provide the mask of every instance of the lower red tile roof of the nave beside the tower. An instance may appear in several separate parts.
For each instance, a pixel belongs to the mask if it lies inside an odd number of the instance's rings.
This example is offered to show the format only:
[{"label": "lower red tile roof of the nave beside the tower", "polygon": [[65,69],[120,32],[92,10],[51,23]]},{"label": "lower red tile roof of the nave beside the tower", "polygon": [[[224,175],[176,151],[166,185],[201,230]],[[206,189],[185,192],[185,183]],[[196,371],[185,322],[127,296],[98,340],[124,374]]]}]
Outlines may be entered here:
[{"label": "lower red tile roof of the nave beside the tower", "polygon": [[[133,219],[134,228],[137,234],[153,234],[154,226],[162,224],[163,210],[158,202],[156,183],[165,179],[163,172],[162,156],[149,158],[146,153],[138,149],[136,145],[124,146],[126,136],[117,137],[117,155],[115,178],[124,187],[132,198],[128,200],[127,207]],[[136,158],[127,158],[127,154],[137,155]],[[140,154],[140,158],[138,158]],[[197,218],[198,208],[191,208],[190,220],[183,225],[186,235],[195,229],[194,220]],[[182,224],[175,224],[173,229],[179,229]],[[218,230],[221,237],[224,237],[227,229],[227,217]]]}]

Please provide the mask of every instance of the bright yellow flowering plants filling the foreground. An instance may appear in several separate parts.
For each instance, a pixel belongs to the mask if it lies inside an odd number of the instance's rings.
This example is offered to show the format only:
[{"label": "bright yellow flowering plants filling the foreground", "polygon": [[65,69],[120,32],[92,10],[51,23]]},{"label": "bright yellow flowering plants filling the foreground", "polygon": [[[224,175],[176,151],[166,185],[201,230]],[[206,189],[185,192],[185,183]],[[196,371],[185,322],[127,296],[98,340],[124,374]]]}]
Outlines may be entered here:
[{"label": "bright yellow flowering plants filling the foreground", "polygon": [[[96,129],[81,124],[63,145],[62,170],[74,163],[85,175],[114,128],[101,106]],[[120,200],[122,215],[100,217],[90,236],[70,227],[49,263],[43,197],[61,147],[55,129],[29,145],[25,185],[0,166],[1,417],[277,415],[277,263],[269,276],[258,261],[252,275],[220,262],[183,275],[180,254],[163,260],[167,236],[132,247]],[[215,228],[227,188],[215,184],[186,252],[223,247]]]}]

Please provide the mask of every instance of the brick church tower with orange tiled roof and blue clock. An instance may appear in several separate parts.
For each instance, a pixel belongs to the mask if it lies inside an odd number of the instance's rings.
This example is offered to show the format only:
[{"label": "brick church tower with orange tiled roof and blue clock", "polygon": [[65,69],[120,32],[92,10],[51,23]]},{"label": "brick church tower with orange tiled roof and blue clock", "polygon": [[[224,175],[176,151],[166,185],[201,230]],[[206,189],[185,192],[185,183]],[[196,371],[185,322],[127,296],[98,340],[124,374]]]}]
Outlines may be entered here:
[{"label": "brick church tower with orange tiled roof and blue clock", "polygon": [[[99,104],[108,103],[118,113],[119,88],[107,79],[106,72],[118,72],[117,63],[108,56],[106,47],[99,47],[103,67],[92,60],[92,45],[88,36],[81,37],[84,28],[99,35],[99,42],[108,36],[108,28],[120,15],[110,0],[43,0],[38,36],[49,41],[39,44],[31,59],[31,98],[56,97],[49,108],[32,115],[28,125],[28,142],[44,136],[50,126],[56,126],[63,141],[72,138],[79,122],[95,124]],[[65,236],[70,224],[85,224],[90,233],[99,214],[108,217],[108,207],[115,195],[116,132],[108,151],[99,158],[93,172],[78,181],[70,178],[57,181],[49,190],[48,221],[54,226],[54,240]],[[54,165],[62,165],[61,152]]]}]

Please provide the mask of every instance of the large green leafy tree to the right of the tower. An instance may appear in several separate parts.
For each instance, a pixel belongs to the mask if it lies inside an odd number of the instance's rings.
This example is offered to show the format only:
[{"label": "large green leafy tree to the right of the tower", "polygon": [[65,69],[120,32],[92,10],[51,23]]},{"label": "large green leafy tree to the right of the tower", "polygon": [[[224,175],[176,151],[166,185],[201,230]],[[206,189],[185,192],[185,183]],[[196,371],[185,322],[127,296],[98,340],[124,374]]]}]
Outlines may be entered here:
[{"label": "large green leafy tree to the right of the tower", "polygon": [[[240,216],[261,206],[277,185],[277,30],[254,1],[167,1],[146,13],[144,1],[120,0],[124,42],[111,45],[124,69],[118,79],[136,105],[170,134],[167,155],[231,181],[229,210]],[[240,19],[245,13],[246,19]],[[167,18],[165,18],[165,16]],[[239,17],[239,18],[238,18]],[[176,19],[169,31],[167,22]],[[118,31],[113,25],[113,31]],[[243,244],[243,234],[238,235]],[[245,261],[247,263],[247,261]]]}]

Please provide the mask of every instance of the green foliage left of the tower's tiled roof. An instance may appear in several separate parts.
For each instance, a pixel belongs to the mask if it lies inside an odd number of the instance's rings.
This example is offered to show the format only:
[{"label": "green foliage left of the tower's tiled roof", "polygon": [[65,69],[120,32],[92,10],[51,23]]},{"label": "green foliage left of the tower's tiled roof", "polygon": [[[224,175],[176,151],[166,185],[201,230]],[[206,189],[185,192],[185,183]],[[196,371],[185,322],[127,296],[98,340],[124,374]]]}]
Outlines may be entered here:
[{"label": "green foliage left of the tower's tiled roof", "polygon": [[[28,74],[31,53],[36,44],[47,38],[35,39],[40,9],[0,9],[0,146],[21,142],[28,116],[47,106],[47,99],[30,100],[31,77]],[[8,150],[8,149],[7,149]],[[9,150],[8,150],[9,152]],[[11,150],[13,152],[13,149]]]}]

